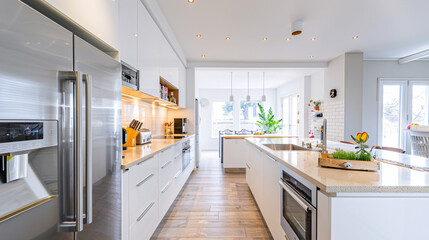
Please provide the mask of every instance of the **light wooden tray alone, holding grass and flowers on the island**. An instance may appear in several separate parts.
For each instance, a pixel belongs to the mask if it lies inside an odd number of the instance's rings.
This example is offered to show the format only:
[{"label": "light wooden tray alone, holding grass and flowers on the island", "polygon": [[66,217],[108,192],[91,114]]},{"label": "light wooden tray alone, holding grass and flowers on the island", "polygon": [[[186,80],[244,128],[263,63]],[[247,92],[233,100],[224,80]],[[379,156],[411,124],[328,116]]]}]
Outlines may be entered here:
[{"label": "light wooden tray alone, holding grass and flowers on the island", "polygon": [[321,154],[319,157],[319,166],[340,168],[346,170],[366,170],[376,171],[380,170],[379,161],[360,161],[360,160],[346,160],[346,159],[335,159],[330,158],[330,154]]}]

